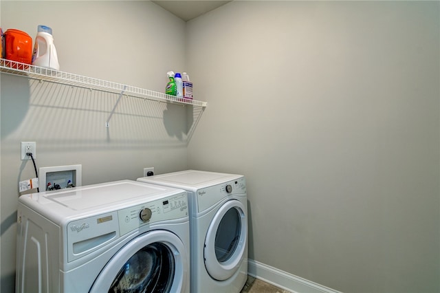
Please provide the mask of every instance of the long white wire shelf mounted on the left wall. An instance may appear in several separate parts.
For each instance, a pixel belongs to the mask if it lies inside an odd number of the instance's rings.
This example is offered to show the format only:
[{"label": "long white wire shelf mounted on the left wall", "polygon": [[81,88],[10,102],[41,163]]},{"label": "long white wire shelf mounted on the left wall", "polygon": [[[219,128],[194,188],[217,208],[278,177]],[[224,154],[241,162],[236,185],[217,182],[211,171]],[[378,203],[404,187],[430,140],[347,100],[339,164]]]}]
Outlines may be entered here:
[{"label": "long white wire shelf mounted on the left wall", "polygon": [[1,58],[0,72],[16,76],[25,76],[50,83],[60,83],[74,87],[95,89],[97,91],[107,91],[114,94],[120,94],[121,96],[123,94],[126,96],[133,96],[135,98],[157,100],[159,102],[169,102],[180,105],[194,105],[199,107],[206,107],[208,105],[207,102],[202,102],[199,100],[178,98],[177,96],[170,96],[159,91],[151,91],[149,89],[142,89],[140,87],[133,87],[131,85],[113,83],[112,81],[108,80],[100,80],[97,78],[81,76],[69,72],[61,72],[55,69],[29,65]]}]

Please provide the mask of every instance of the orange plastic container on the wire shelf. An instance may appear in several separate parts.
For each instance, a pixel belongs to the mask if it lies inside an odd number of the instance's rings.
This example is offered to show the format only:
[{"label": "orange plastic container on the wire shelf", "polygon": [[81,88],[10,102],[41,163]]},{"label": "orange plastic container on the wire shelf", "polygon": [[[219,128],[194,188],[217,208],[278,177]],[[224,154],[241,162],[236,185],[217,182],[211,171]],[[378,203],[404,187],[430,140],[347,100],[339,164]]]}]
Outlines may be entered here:
[{"label": "orange plastic container on the wire shelf", "polygon": [[21,30],[6,30],[4,54],[8,60],[32,64],[32,38]]}]

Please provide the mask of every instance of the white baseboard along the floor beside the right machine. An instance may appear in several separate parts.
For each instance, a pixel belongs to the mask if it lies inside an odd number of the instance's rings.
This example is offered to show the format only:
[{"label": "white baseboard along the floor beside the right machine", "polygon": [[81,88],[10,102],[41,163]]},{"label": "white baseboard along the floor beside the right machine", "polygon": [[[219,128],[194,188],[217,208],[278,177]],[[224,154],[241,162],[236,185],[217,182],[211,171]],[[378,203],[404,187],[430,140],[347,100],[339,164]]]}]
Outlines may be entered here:
[{"label": "white baseboard along the floor beside the right machine", "polygon": [[265,265],[264,263],[259,263],[253,259],[248,260],[248,274],[256,279],[265,281],[280,287],[283,290],[294,293],[341,293],[339,291],[333,290],[329,287],[308,281],[301,278],[300,276],[295,276],[277,268],[271,267],[270,265]]}]

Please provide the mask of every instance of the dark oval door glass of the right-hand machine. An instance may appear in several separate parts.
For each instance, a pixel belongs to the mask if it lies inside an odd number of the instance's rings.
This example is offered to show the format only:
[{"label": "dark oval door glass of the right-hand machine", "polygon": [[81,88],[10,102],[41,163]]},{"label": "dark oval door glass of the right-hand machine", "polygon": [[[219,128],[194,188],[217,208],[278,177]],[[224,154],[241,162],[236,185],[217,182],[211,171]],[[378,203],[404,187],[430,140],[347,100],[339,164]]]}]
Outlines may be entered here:
[{"label": "dark oval door glass of the right-hand machine", "polygon": [[215,256],[223,263],[230,259],[238,245],[241,233],[241,217],[236,208],[231,208],[221,219],[215,234]]}]

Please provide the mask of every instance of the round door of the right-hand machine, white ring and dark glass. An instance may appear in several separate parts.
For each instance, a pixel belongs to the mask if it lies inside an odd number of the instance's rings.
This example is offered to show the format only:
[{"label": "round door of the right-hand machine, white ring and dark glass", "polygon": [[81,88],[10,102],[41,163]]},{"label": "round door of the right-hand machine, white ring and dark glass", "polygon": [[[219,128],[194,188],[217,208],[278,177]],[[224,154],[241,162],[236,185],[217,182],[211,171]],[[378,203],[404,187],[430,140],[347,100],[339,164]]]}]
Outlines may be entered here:
[{"label": "round door of the right-hand machine, white ring and dark glass", "polygon": [[213,279],[229,279],[239,269],[245,255],[248,221],[245,206],[232,199],[217,211],[206,233],[205,266]]}]

